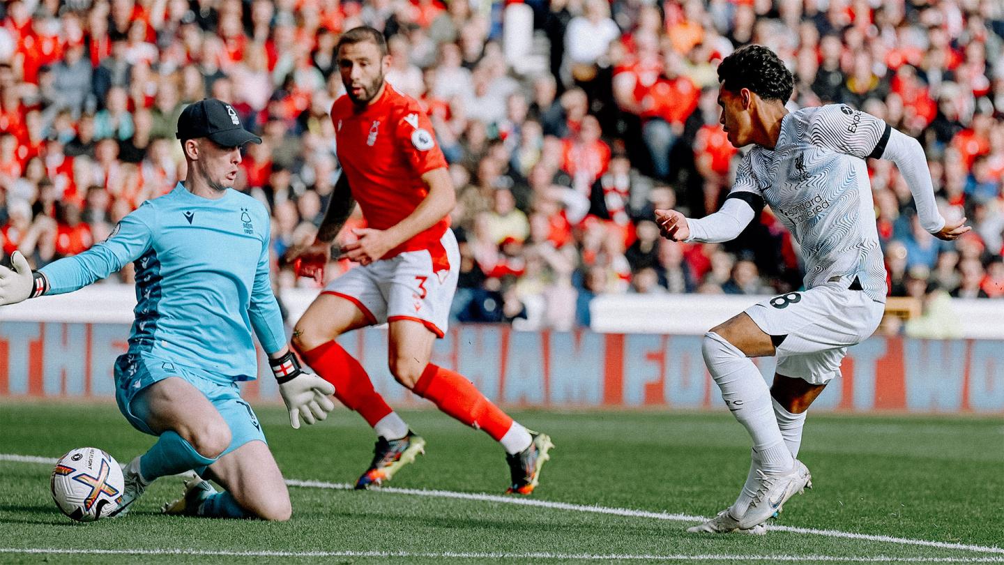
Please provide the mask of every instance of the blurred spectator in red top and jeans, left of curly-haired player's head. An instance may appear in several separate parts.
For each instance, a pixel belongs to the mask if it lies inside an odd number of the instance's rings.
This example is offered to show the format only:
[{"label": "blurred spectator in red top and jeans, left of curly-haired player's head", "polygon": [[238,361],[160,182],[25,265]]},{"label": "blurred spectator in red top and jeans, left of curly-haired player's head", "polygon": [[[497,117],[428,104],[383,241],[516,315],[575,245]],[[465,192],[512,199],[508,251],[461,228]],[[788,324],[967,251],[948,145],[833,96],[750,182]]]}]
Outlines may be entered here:
[{"label": "blurred spectator in red top and jeans, left of curly-haired player's head", "polygon": [[663,76],[642,99],[642,137],[652,155],[654,173],[665,179],[670,176],[670,151],[684,133],[684,122],[697,109],[701,91],[680,74],[681,60],[676,51],[666,52]]}]

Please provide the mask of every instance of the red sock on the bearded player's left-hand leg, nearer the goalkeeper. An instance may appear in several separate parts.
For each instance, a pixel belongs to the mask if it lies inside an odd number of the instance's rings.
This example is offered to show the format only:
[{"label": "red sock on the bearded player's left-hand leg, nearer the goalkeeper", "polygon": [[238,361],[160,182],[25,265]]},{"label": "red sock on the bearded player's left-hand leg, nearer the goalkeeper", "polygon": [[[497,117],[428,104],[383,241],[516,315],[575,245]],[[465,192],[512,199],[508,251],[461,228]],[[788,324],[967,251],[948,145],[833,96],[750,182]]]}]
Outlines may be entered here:
[{"label": "red sock on the bearded player's left-hand leg, nearer the goalkeeper", "polygon": [[297,348],[296,352],[322,379],[334,385],[334,397],[349,410],[358,412],[370,426],[394,411],[373,390],[362,365],[337,342],[332,340],[310,351]]}]

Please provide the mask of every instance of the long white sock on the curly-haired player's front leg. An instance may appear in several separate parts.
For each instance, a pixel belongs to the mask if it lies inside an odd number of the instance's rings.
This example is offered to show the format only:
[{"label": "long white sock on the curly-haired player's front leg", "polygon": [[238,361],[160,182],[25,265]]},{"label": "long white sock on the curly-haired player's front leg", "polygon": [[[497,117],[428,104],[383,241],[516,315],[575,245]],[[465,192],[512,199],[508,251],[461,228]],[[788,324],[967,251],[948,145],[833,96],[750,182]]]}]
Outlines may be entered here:
[{"label": "long white sock on the curly-haired player's front leg", "polygon": [[753,448],[763,461],[762,470],[768,475],[791,470],[794,457],[784,443],[770,389],[756,365],[714,332],[704,335],[701,350],[708,371],[722,390],[722,399],[753,438]]}]

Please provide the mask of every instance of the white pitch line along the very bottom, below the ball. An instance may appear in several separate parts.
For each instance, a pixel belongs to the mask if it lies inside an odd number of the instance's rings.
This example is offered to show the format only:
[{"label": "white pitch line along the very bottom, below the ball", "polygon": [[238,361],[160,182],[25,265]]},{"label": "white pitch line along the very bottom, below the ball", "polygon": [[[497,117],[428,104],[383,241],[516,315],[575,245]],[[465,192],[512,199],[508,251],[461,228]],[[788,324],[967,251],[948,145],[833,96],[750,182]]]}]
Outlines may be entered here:
[{"label": "white pitch line along the very bottom, below the ball", "polygon": [[1004,557],[840,557],[835,555],[634,555],[592,553],[501,553],[501,552],[412,552],[412,551],[227,551],[201,549],[55,549],[0,548],[0,554],[72,554],[72,555],[186,555],[204,557],[402,557],[430,559],[565,559],[578,561],[769,561],[829,563],[1004,563]]}]

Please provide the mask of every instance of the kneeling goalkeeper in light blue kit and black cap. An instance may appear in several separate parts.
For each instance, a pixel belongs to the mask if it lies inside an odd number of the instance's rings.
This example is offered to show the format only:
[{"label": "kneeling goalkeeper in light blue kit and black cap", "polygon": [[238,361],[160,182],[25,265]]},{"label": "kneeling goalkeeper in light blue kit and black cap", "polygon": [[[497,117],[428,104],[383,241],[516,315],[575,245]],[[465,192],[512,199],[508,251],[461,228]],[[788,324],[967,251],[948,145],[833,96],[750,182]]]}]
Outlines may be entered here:
[{"label": "kneeling goalkeeper in light blue kit and black cap", "polygon": [[261,139],[217,100],[187,107],[178,139],[188,165],[184,182],[144,202],[83,253],[33,272],[15,252],[12,269],[0,266],[0,305],[76,291],[133,261],[136,321],[129,351],[115,361],[115,398],[134,427],[159,439],[126,465],[117,516],[155,479],[195,470],[166,513],[288,520],[289,493],[237,386],[257,373],[252,330],[294,428],[300,416],[324,419],[334,390],[302,371],[286,347],[269,280],[268,212],[232,190],[240,148]]}]

